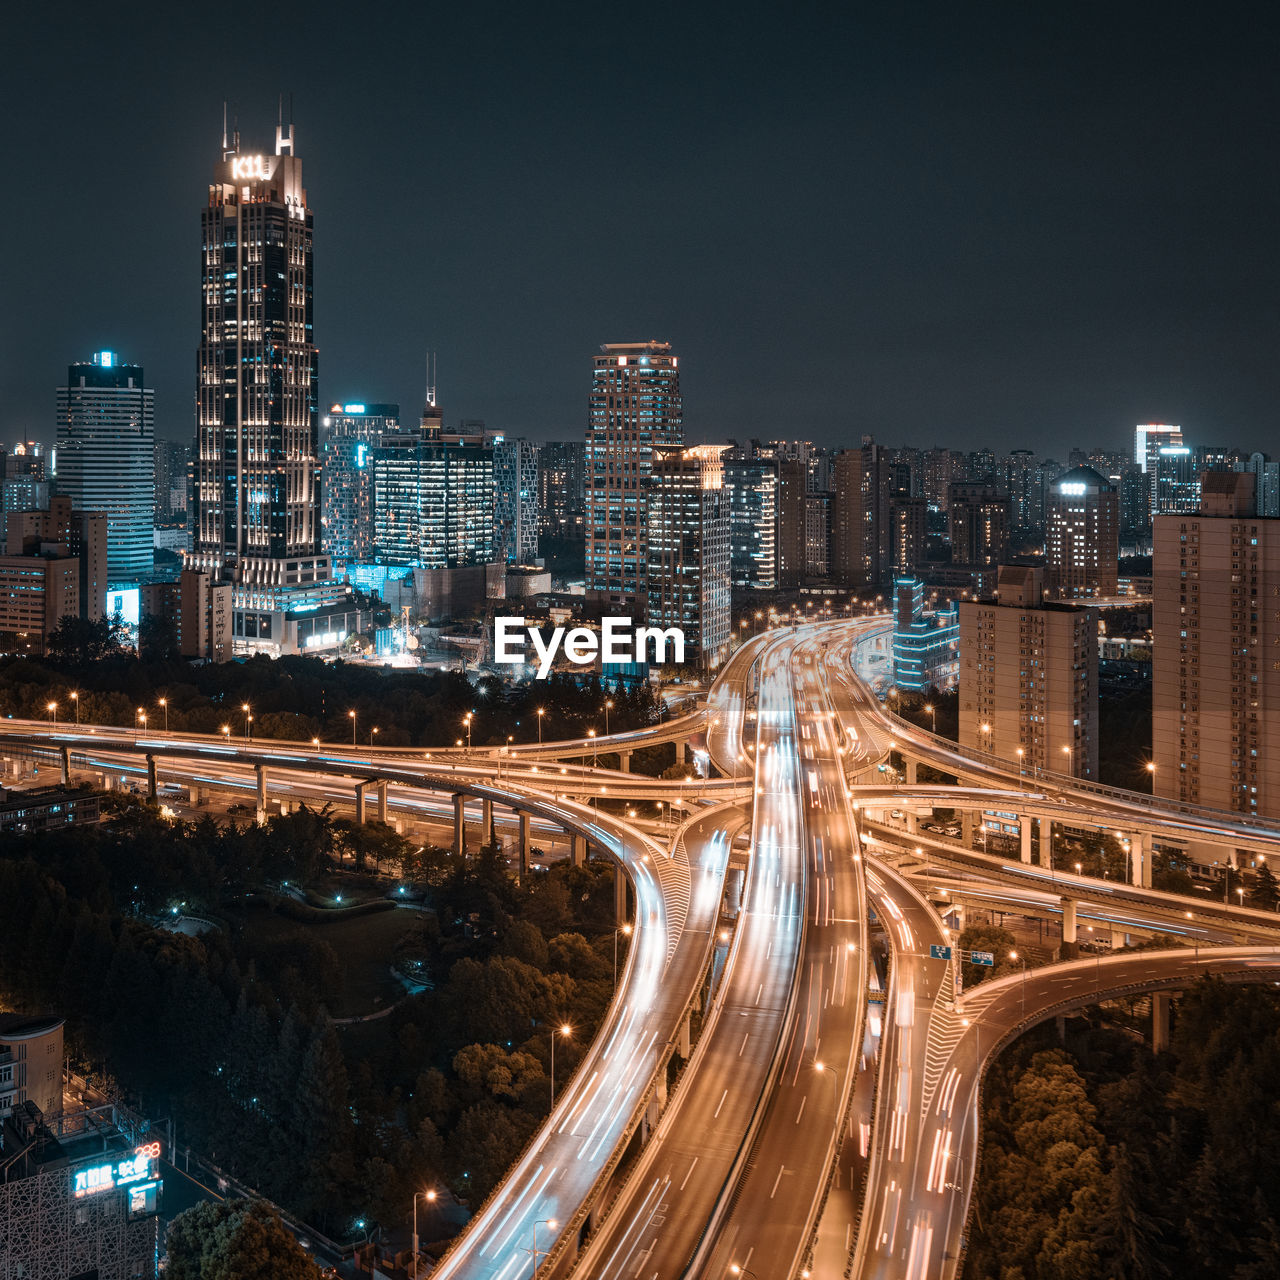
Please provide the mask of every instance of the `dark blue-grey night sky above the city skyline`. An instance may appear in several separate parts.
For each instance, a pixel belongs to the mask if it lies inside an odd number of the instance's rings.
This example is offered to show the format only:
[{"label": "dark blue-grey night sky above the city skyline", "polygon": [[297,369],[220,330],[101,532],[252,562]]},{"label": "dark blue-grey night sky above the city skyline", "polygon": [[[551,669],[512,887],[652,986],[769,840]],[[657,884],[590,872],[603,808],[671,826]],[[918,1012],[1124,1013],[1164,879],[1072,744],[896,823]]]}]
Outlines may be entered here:
[{"label": "dark blue-grey night sky above the city skyline", "polygon": [[223,99],[269,150],[283,88],[324,404],[415,419],[433,347],[448,421],[577,438],[596,346],[662,338],[691,439],[1277,454],[1272,14],[23,5],[0,442],[100,347],[189,435]]}]

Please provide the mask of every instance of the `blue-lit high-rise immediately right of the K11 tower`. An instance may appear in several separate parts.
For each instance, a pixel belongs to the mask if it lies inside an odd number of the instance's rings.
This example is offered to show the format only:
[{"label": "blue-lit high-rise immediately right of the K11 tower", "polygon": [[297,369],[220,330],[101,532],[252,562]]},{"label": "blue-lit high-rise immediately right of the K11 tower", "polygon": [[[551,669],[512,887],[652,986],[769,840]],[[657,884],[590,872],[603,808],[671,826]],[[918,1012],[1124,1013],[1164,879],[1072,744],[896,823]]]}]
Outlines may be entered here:
[{"label": "blue-lit high-rise immediately right of the K11 tower", "polygon": [[367,563],[374,558],[374,453],[399,431],[399,404],[351,401],[320,422],[324,463],[320,521],[325,556]]}]

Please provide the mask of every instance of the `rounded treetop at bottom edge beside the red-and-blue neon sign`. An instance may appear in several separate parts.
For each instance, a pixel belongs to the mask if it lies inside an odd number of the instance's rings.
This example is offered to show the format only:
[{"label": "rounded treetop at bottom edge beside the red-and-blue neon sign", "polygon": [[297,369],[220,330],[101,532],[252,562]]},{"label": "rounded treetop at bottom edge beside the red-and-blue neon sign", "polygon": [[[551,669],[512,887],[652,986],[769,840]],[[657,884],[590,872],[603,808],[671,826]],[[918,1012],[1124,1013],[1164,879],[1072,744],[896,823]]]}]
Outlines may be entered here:
[{"label": "rounded treetop at bottom edge beside the red-and-blue neon sign", "polygon": [[316,1280],[320,1268],[265,1201],[179,1213],[165,1234],[169,1280]]}]

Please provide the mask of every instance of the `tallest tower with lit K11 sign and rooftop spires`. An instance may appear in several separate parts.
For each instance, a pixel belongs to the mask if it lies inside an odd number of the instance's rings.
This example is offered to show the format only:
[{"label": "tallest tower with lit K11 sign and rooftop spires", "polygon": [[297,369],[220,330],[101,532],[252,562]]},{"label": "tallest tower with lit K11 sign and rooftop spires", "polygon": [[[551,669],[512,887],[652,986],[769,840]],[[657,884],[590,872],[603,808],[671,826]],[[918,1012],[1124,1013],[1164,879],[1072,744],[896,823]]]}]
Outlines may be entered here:
[{"label": "tallest tower with lit K11 sign and rooftop spires", "polygon": [[201,214],[191,567],[250,588],[329,579],[321,554],[312,215],[293,125],[215,166]]}]

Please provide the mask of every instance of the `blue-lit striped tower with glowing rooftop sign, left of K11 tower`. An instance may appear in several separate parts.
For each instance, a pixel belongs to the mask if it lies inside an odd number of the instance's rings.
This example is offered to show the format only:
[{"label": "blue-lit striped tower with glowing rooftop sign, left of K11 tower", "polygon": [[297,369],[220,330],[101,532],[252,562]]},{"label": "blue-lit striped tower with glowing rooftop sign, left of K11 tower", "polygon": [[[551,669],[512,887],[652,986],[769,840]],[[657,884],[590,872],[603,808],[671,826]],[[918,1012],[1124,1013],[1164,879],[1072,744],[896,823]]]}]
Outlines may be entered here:
[{"label": "blue-lit striped tower with glowing rooftop sign, left of K11 tower", "polygon": [[111,351],[72,365],[58,388],[59,494],[106,516],[108,579],[128,586],[155,567],[155,393],[141,365]]}]

